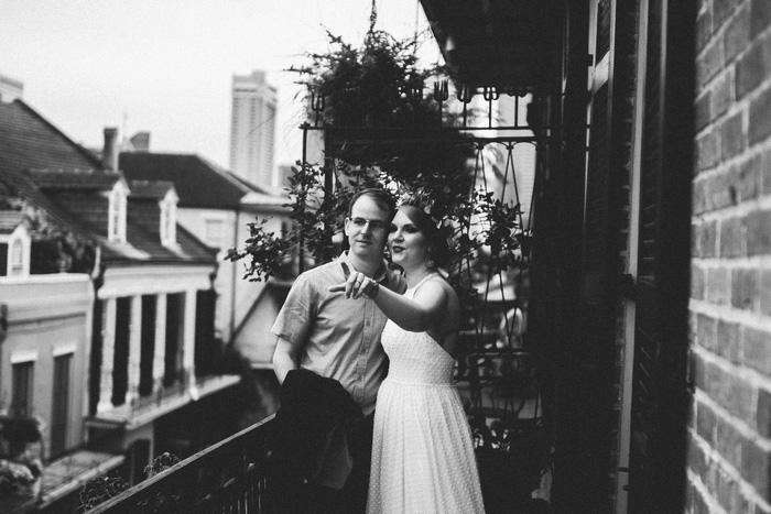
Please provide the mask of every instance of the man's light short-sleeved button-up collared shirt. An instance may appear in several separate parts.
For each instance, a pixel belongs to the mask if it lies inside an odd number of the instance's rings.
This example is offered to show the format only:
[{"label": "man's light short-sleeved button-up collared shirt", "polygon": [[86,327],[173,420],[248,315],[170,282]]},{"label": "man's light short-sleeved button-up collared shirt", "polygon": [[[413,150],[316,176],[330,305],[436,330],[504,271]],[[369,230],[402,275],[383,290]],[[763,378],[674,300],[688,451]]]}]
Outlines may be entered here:
[{"label": "man's light short-sleeved button-up collared shirt", "polygon": [[[300,367],[340,382],[369,415],[388,370],[380,343],[387,318],[371,299],[328,291],[345,282],[344,261],[346,255],[301,274],[271,332],[302,347]],[[350,262],[348,266],[354,269]],[[384,264],[377,280],[381,287],[398,293],[406,287],[404,278]]]}]

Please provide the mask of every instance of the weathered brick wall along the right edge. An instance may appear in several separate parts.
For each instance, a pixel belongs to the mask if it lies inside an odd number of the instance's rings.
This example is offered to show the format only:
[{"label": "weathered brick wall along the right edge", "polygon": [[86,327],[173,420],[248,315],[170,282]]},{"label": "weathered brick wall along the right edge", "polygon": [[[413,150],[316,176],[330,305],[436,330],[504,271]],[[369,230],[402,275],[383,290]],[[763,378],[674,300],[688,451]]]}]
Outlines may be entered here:
[{"label": "weathered brick wall along the right edge", "polygon": [[702,0],[688,512],[771,513],[771,0]]}]

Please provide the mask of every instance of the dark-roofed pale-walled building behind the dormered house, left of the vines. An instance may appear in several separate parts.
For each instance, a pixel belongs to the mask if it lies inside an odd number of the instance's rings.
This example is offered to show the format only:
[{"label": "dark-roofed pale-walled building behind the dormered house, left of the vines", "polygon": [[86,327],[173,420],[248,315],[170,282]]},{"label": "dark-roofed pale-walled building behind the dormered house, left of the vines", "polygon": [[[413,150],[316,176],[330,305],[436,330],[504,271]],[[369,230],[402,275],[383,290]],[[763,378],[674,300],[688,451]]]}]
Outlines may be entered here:
[{"label": "dark-roofed pale-walled building behind the dormered house, left of the vines", "polygon": [[[249,222],[269,218],[265,229],[287,230],[285,195],[273,195],[195,154],[123,152],[121,171],[129,181],[166,181],[180,196],[177,221],[208,247],[218,250],[215,289],[215,335],[234,343],[254,368],[270,368],[275,337],[270,327],[286,294],[290,277],[268,282],[243,280],[243,263],[225,259],[241,247]],[[283,280],[282,280],[283,278]]]}]

